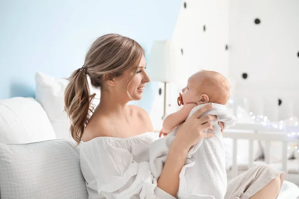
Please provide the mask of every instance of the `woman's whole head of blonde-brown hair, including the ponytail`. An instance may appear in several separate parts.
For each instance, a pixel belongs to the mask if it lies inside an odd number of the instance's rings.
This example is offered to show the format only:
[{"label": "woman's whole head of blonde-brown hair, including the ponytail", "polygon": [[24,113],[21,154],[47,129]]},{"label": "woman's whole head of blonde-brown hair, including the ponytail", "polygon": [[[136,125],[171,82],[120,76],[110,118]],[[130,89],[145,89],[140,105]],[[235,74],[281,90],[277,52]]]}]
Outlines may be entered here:
[{"label": "woman's whole head of blonde-brown hair, including the ponytail", "polygon": [[[137,71],[144,54],[139,43],[119,34],[103,35],[90,46],[83,67],[68,78],[64,93],[64,109],[71,120],[70,133],[78,144],[94,110],[91,102],[95,94],[90,95],[87,76],[94,88],[101,89],[106,80],[120,77],[127,70]],[[128,82],[127,92],[135,75]]]}]

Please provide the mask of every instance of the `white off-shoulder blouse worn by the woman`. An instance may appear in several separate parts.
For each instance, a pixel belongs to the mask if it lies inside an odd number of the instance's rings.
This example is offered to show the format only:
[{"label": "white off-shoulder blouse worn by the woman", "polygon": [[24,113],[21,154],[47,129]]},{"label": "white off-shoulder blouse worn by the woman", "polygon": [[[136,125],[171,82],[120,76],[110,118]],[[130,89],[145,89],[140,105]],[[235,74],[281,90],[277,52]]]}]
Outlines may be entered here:
[{"label": "white off-shoulder blouse worn by the woman", "polygon": [[80,143],[89,199],[175,199],[157,188],[149,169],[152,132],[127,139],[97,137]]}]

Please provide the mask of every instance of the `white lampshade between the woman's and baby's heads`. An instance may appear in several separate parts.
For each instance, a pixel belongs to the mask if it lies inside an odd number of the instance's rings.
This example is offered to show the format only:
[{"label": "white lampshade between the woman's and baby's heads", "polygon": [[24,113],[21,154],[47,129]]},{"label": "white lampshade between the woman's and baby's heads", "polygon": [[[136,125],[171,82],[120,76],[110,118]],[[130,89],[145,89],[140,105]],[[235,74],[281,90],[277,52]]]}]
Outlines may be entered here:
[{"label": "white lampshade between the woman's and baby's heads", "polygon": [[147,67],[151,81],[178,81],[183,71],[180,47],[173,41],[154,41]]}]

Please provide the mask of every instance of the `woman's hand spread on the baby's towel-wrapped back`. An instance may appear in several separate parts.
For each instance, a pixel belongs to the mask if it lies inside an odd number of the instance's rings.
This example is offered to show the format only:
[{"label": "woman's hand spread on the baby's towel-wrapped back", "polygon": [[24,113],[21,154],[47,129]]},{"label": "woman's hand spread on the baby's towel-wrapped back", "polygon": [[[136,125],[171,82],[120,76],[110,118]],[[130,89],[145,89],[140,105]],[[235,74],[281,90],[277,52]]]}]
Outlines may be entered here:
[{"label": "woman's hand spread on the baby's towel-wrapped back", "polygon": [[204,131],[207,129],[214,130],[210,121],[217,119],[217,116],[206,115],[200,118],[201,115],[211,107],[211,104],[203,106],[179,126],[174,140],[174,143],[177,144],[176,146],[179,146],[181,149],[189,150],[191,146],[201,139],[213,137],[213,133]]}]

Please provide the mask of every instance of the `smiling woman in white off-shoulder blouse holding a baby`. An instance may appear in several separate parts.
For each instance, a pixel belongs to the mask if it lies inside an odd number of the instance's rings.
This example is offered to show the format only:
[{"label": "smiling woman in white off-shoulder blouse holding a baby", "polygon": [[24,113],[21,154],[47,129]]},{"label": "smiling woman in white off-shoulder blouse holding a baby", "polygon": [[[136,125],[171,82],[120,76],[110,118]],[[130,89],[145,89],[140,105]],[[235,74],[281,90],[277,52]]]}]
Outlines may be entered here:
[{"label": "smiling woman in white off-shoulder blouse holding a baby", "polygon": [[[65,91],[70,132],[80,143],[80,163],[90,199],[175,199],[179,173],[187,152],[213,135],[216,116],[200,118],[211,106],[199,109],[183,123],[173,141],[160,178],[149,169],[149,145],[156,138],[148,113],[131,100],[140,100],[149,77],[143,48],[118,34],[99,37],[87,52],[82,68],[73,72]],[[92,116],[87,76],[101,89],[100,104]],[[228,182],[227,199],[275,199],[284,173],[258,166]]]}]

